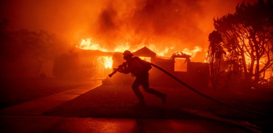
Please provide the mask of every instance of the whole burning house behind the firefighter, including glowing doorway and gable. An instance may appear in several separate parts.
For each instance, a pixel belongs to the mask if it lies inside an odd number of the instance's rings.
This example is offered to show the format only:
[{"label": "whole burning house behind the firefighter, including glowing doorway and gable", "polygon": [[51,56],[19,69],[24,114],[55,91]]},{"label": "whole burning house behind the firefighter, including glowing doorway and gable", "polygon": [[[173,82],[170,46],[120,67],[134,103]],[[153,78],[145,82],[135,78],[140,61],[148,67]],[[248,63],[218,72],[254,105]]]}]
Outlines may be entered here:
[{"label": "whole burning house behind the firefighter, including glowing doorway and gable", "polygon": [[[183,52],[176,52],[170,58],[159,57],[154,51],[144,46],[136,51],[133,51],[132,53],[134,56],[137,56],[142,60],[151,62],[163,68],[164,70],[178,77],[184,83],[194,88],[208,87],[208,64],[191,62],[191,56],[186,55]],[[95,79],[107,78],[108,74],[112,72],[113,68],[117,68],[118,65],[124,62],[122,52],[104,52],[100,50],[78,49],[77,55],[83,57],[80,58],[82,62],[96,65],[97,74],[93,77]],[[149,72],[150,84],[153,86],[182,86],[177,81],[156,68],[151,69]],[[122,74],[117,72],[111,78],[111,81],[115,84],[130,85],[132,84],[133,79],[134,78],[132,78],[131,74]]]}]

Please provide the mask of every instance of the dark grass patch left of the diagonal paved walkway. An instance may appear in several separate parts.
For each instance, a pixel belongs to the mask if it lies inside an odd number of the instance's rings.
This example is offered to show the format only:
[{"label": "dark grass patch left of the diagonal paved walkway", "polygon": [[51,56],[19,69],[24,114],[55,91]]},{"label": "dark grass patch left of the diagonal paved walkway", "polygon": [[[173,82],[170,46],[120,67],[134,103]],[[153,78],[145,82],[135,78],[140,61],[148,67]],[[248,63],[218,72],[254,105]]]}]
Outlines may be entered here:
[{"label": "dark grass patch left of the diagonal paved walkway", "polygon": [[70,90],[88,83],[90,82],[56,78],[1,77],[0,109]]}]

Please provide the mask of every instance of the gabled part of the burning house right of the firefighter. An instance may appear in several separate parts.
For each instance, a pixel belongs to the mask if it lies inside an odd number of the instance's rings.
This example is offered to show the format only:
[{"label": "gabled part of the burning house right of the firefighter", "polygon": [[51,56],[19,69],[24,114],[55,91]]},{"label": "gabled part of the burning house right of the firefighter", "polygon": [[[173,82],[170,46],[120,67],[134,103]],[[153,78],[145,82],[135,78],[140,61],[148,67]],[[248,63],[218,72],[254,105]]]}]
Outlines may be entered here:
[{"label": "gabled part of the burning house right of the firefighter", "polygon": [[[179,78],[184,83],[194,88],[207,88],[209,82],[208,76],[208,64],[201,62],[191,62],[191,56],[184,54],[183,52],[176,52],[172,57],[164,58],[157,57],[155,52],[151,51],[147,47],[143,47],[135,52],[135,56],[138,56],[146,61],[163,68],[172,75]],[[154,68],[150,70],[150,81],[152,85],[160,86],[181,86],[177,81]]]}]

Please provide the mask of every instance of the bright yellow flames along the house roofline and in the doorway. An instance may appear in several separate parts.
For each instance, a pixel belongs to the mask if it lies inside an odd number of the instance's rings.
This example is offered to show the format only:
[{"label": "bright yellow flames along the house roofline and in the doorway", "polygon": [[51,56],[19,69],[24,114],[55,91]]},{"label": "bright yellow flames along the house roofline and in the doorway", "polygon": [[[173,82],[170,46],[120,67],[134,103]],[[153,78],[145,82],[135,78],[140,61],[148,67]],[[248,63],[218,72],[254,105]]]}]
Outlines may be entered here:
[{"label": "bright yellow flames along the house roofline and in the doorway", "polygon": [[[115,49],[109,49],[107,47],[102,47],[101,45],[96,43],[92,38],[87,38],[87,39],[82,39],[80,45],[76,47],[80,49],[100,50],[104,52],[112,52],[112,51],[123,52],[124,50],[136,51],[144,46],[145,45],[140,44],[137,47],[132,48],[129,43],[125,43],[123,45],[119,45],[115,47]],[[175,49],[175,46],[165,47],[163,50],[158,49],[157,46],[154,44],[150,44],[147,47],[149,47],[149,49],[151,49],[152,51],[156,52],[157,56],[160,56],[160,57],[168,57],[168,56],[170,57],[171,55],[167,55],[167,53],[170,52],[169,50],[172,50],[173,52],[177,52],[175,50],[179,51],[179,49]],[[184,48],[182,50],[184,54],[190,55],[192,58],[194,58],[197,52],[200,52],[200,51],[202,51],[202,48],[200,46],[195,46],[193,50],[190,50],[188,48]],[[104,68],[112,69],[112,64],[113,64],[112,57],[103,57],[103,64],[104,64]]]}]

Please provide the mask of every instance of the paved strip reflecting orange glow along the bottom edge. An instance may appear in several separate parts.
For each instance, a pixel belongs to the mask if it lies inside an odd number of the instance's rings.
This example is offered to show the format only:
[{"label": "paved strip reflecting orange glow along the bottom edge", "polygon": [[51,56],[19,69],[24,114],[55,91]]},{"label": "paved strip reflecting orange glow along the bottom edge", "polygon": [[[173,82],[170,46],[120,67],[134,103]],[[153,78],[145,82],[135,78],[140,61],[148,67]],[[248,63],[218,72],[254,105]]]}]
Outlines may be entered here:
[{"label": "paved strip reflecting orange glow along the bottom edge", "polygon": [[0,116],[1,132],[259,132],[208,119]]}]

